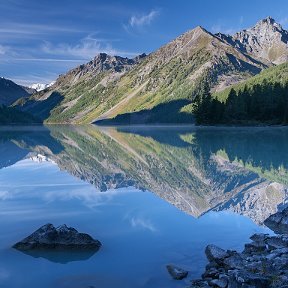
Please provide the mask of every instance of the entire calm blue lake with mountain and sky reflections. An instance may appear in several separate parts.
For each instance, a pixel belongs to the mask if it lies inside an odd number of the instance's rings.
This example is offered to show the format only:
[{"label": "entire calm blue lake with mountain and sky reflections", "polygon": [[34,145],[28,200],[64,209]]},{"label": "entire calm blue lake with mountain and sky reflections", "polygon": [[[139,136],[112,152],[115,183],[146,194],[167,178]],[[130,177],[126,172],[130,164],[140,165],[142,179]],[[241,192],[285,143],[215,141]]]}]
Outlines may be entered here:
[{"label": "entire calm blue lake with mountain and sky reflections", "polygon": [[[287,148],[282,127],[1,127],[0,287],[186,287],[206,245],[272,233],[262,223],[287,206]],[[103,246],[11,248],[46,223]],[[172,280],[170,263],[189,277]]]}]

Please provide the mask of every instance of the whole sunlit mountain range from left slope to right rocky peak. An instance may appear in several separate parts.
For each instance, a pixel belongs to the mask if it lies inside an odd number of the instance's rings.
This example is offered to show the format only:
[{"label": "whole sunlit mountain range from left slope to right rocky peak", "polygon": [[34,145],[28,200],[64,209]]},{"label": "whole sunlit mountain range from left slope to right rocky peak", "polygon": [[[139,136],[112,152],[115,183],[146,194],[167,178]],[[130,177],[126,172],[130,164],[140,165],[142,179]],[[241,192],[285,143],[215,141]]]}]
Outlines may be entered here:
[{"label": "whole sunlit mountain range from left slope to right rocky peak", "polygon": [[99,54],[14,105],[46,123],[191,123],[203,89],[219,92],[286,61],[286,36],[269,17],[234,36],[198,26],[148,56]]}]

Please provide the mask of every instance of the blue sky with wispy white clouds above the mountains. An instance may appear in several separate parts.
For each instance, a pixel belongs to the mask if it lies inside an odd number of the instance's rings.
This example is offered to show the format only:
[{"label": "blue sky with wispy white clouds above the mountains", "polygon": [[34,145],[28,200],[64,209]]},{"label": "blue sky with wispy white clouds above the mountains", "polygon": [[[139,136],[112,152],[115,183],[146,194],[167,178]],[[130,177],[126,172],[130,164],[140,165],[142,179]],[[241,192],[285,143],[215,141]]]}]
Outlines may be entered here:
[{"label": "blue sky with wispy white clouds above the mountains", "polygon": [[0,76],[49,83],[99,52],[134,57],[201,25],[233,34],[272,16],[288,28],[287,0],[5,0]]}]

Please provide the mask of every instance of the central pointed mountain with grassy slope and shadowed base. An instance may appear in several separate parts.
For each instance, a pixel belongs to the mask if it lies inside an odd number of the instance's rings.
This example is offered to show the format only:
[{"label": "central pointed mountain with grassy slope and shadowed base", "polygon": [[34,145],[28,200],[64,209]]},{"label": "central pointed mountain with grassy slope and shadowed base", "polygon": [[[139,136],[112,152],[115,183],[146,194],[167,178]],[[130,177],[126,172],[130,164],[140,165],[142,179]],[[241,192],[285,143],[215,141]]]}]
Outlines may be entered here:
[{"label": "central pointed mountain with grassy slope and shadowed base", "polygon": [[[204,83],[209,83],[210,88],[217,89],[226,77],[247,78],[258,73],[259,67],[259,63],[253,62],[198,27],[152,53],[140,66],[130,71],[131,77],[136,75],[138,79],[143,78],[141,83],[147,81],[145,87],[129,100],[125,107],[112,110],[112,113],[104,114],[105,117],[101,115],[96,120],[126,113],[126,118],[132,117],[133,123],[141,123],[143,118],[145,123],[171,123],[171,115],[179,115],[182,111],[191,115],[191,105],[186,103],[184,107],[179,108],[179,101],[188,100],[191,103]],[[159,105],[163,108],[163,104],[165,109],[157,109]],[[144,116],[143,113],[135,113],[144,110]],[[97,110],[94,113],[97,113]],[[189,117],[177,117],[180,122],[183,122],[184,118],[184,122],[189,122]],[[115,119],[116,122],[118,118]],[[179,122],[179,119],[172,119],[172,122]]]}]

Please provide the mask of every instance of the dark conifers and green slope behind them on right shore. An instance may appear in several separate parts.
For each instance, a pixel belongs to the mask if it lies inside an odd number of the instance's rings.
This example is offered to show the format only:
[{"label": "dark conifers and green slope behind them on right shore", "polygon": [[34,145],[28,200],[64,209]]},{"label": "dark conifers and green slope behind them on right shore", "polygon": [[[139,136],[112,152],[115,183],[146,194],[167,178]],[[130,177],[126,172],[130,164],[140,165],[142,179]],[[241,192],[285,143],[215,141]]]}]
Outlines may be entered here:
[{"label": "dark conifers and green slope behind them on right shore", "polygon": [[207,88],[199,91],[194,109],[197,124],[287,125],[288,64],[267,69],[213,96]]}]

